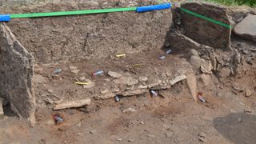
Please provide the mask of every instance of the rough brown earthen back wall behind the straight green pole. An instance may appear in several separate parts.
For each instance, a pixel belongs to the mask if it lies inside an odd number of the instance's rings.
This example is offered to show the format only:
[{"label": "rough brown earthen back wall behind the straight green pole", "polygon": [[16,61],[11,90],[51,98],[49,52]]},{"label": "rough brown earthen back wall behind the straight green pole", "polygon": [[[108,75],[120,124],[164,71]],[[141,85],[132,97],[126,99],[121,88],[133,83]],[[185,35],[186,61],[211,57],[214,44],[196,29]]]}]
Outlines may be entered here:
[{"label": "rough brown earthen back wall behind the straight green pole", "polygon": [[[9,2],[11,3],[11,2]],[[2,4],[5,14],[60,10],[92,10],[143,6],[154,2],[69,1],[32,2],[10,7]],[[21,4],[20,4],[21,5]],[[170,10],[146,13],[118,12],[55,18],[13,19],[7,23],[36,63],[79,61],[106,58],[109,55],[160,49],[170,29]]]}]

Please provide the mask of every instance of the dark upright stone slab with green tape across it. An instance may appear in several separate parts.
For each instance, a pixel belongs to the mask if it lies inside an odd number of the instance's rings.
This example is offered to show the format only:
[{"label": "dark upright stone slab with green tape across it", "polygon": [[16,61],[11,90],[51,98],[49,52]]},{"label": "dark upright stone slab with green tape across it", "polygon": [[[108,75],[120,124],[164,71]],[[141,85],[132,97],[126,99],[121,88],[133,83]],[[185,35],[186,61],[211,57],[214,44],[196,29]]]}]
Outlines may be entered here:
[{"label": "dark upright stone slab with green tape across it", "polygon": [[[186,2],[182,4],[181,7],[196,14],[201,14],[207,18],[212,18],[230,25],[229,18],[226,14],[226,8],[224,7],[198,2]],[[181,16],[185,35],[187,37],[214,48],[230,49],[230,29],[206,21],[202,18],[197,18],[182,10]]]}]

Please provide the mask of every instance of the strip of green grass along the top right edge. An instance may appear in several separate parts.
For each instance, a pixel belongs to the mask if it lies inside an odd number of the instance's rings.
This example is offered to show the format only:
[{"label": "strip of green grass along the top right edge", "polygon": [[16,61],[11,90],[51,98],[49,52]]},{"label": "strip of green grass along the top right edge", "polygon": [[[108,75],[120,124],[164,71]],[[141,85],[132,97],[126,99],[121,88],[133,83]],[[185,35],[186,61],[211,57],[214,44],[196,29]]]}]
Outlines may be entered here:
[{"label": "strip of green grass along the top right edge", "polygon": [[218,2],[227,6],[256,6],[256,0],[205,0],[206,2]]}]

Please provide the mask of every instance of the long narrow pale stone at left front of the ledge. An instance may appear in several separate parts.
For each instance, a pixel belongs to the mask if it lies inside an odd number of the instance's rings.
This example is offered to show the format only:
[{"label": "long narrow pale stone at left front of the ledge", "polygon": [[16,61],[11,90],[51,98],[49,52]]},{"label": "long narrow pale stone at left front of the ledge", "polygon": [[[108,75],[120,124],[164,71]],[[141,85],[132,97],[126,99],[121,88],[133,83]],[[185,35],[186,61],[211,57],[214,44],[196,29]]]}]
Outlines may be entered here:
[{"label": "long narrow pale stone at left front of the ledge", "polygon": [[73,107],[81,107],[81,106],[86,106],[90,105],[91,99],[81,99],[81,100],[75,100],[75,101],[70,101],[70,102],[62,102],[62,103],[57,103],[54,106],[54,110],[63,110],[63,109],[68,109],[68,108],[73,108]]}]

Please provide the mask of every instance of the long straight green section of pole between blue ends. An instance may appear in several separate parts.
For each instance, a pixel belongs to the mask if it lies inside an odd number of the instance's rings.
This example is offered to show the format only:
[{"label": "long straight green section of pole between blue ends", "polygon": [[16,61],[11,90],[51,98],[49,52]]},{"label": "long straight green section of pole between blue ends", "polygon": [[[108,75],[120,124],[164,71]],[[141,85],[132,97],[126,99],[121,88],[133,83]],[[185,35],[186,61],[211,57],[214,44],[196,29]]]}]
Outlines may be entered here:
[{"label": "long straight green section of pole between blue ends", "polygon": [[77,15],[77,14],[100,14],[112,13],[120,11],[135,11],[137,7],[102,9],[102,10],[78,10],[78,11],[57,11],[50,13],[31,13],[31,14],[10,14],[10,18],[37,18],[37,17],[54,17],[62,15]]}]

